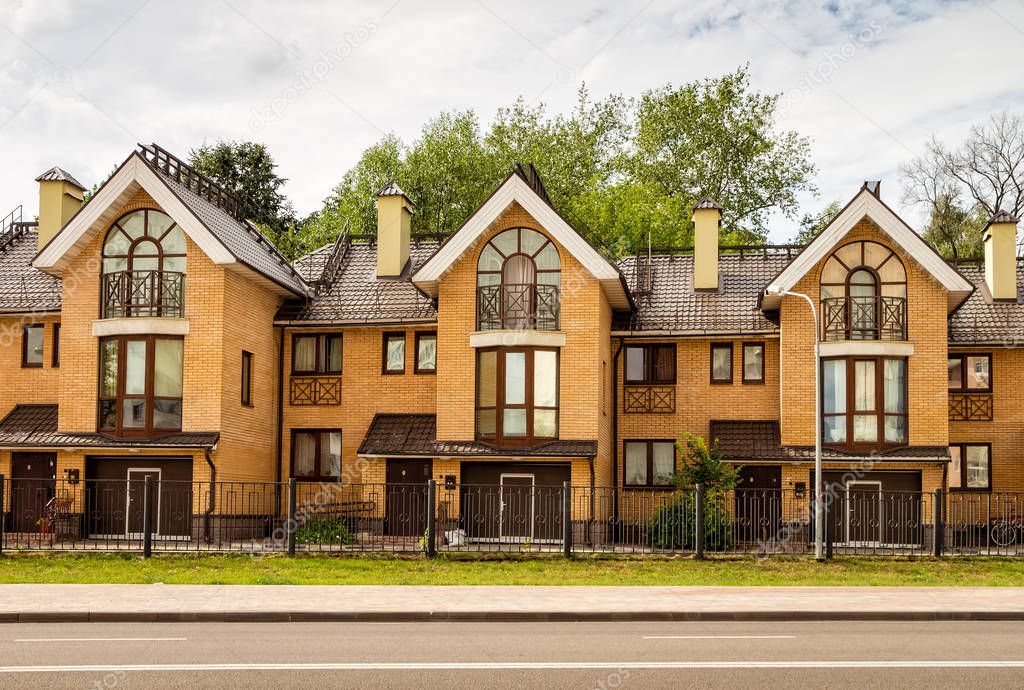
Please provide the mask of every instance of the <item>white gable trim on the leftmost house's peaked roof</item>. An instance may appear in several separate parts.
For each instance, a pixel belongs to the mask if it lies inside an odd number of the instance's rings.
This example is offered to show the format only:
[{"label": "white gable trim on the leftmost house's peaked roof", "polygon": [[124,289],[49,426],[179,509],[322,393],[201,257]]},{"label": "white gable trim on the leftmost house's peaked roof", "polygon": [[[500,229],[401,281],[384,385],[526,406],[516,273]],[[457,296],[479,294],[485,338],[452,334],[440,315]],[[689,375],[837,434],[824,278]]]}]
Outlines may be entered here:
[{"label": "white gable trim on the leftmost house's peaked roof", "polygon": [[[92,240],[92,230],[104,216],[110,215],[121,204],[127,202],[121,197],[129,191],[132,183],[137,184],[153,200],[174,219],[185,234],[214,263],[227,265],[237,263],[234,256],[224,247],[206,225],[196,217],[170,187],[160,179],[153,169],[145,164],[138,154],[132,154],[114,176],[96,192],[94,199],[74,217],[63,229],[43,248],[43,251],[32,262],[39,270],[59,274],[69,263]],[[115,205],[117,205],[116,208]],[[110,218],[113,220],[113,218]]]}]

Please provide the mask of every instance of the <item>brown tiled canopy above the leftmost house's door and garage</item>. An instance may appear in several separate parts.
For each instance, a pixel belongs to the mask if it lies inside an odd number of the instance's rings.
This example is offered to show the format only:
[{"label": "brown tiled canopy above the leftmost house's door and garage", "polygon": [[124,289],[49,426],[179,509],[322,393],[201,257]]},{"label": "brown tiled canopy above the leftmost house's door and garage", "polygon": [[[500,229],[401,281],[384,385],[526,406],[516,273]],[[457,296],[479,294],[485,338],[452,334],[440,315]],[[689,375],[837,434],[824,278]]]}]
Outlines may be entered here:
[{"label": "brown tiled canopy above the leftmost house's door and garage", "polygon": [[217,432],[179,432],[153,440],[60,432],[57,405],[52,404],[19,404],[0,421],[2,447],[209,448],[219,439]]}]

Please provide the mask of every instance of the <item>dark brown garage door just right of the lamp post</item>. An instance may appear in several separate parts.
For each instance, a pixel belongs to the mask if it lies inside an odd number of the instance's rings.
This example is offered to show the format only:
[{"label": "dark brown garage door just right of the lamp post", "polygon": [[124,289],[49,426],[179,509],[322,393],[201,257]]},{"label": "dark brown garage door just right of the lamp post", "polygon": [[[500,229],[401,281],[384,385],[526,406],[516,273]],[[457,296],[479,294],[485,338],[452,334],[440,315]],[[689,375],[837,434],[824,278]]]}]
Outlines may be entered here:
[{"label": "dark brown garage door just right of the lamp post", "polygon": [[825,472],[823,478],[835,487],[829,510],[837,543],[923,544],[921,472]]}]

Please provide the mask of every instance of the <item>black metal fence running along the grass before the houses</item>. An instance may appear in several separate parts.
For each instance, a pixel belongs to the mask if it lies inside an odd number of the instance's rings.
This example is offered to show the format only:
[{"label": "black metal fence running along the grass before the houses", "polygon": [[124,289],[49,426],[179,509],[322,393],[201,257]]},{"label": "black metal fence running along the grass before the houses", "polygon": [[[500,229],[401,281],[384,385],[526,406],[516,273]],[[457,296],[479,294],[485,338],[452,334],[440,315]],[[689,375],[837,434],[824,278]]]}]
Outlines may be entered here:
[{"label": "black metal fence running along the grass before the houses", "polygon": [[[0,477],[0,548],[96,552],[813,551],[808,492]],[[829,556],[1024,555],[1024,494],[825,492]]]}]

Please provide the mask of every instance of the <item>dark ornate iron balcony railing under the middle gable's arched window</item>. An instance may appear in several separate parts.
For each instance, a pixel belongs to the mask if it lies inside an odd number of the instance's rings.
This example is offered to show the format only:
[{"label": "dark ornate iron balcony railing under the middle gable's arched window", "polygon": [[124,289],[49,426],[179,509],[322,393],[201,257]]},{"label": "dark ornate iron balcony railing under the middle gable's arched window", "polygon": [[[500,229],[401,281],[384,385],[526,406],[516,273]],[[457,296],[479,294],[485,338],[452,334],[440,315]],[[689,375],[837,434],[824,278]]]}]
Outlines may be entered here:
[{"label": "dark ornate iron balcony railing under the middle gable's arched window", "polygon": [[497,285],[476,289],[479,331],[557,331],[558,286]]}]

